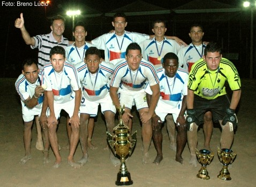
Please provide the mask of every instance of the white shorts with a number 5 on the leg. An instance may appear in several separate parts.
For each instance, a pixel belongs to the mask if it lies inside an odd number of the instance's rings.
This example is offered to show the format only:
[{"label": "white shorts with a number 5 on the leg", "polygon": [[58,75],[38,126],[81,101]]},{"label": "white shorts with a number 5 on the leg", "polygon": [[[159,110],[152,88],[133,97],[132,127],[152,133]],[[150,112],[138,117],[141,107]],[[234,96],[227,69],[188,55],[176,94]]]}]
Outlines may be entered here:
[{"label": "white shorts with a number 5 on the leg", "polygon": [[101,105],[101,112],[111,111],[116,113],[116,107],[112,102],[110,95],[108,94],[106,97],[91,102],[87,100],[84,96],[82,96],[81,105],[80,105],[80,113],[89,114],[92,117],[95,117],[98,113],[98,106]]}]

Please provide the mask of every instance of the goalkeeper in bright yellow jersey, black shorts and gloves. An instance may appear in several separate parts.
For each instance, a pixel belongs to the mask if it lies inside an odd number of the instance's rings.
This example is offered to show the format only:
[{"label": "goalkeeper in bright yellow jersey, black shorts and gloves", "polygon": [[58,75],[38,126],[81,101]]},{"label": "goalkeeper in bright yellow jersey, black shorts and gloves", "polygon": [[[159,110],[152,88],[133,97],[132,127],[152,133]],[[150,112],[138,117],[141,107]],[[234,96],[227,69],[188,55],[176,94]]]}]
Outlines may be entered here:
[{"label": "goalkeeper in bright yellow jersey, black shorts and gloves", "polygon": [[[228,81],[233,91],[231,102],[225,91]],[[221,149],[230,149],[236,128],[236,107],[241,95],[241,82],[234,64],[222,58],[221,48],[210,42],[205,48],[204,56],[191,68],[187,91],[187,142],[190,148],[190,165],[197,166],[195,149],[197,148],[197,129],[204,123],[204,115],[210,111],[213,121],[222,128]]]}]

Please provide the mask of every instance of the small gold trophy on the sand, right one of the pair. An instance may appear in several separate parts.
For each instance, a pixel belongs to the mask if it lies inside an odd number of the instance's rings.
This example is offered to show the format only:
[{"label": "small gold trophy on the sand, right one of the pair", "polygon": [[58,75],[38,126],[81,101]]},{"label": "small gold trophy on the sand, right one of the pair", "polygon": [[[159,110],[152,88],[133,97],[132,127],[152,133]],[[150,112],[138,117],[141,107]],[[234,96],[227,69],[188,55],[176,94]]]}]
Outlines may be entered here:
[{"label": "small gold trophy on the sand, right one of the pair", "polygon": [[234,160],[236,159],[236,153],[233,153],[233,151],[230,149],[220,149],[220,147],[218,147],[217,152],[219,160],[223,164],[222,170],[220,171],[218,178],[229,181],[231,180],[231,177],[228,170],[228,165],[234,162]]}]

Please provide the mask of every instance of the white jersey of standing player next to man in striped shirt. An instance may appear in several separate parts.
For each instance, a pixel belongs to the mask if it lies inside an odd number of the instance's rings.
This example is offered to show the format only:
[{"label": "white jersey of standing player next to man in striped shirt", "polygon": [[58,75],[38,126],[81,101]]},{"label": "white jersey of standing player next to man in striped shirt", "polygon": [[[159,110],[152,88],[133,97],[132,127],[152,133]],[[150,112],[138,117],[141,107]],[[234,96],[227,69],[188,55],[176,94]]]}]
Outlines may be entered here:
[{"label": "white jersey of standing player next to man in striped shirt", "polygon": [[66,60],[73,65],[84,62],[85,52],[91,46],[94,46],[94,45],[90,43],[85,43],[85,45],[81,46],[81,48],[77,48],[75,46],[75,43],[73,43],[72,45],[67,45],[65,49]]}]

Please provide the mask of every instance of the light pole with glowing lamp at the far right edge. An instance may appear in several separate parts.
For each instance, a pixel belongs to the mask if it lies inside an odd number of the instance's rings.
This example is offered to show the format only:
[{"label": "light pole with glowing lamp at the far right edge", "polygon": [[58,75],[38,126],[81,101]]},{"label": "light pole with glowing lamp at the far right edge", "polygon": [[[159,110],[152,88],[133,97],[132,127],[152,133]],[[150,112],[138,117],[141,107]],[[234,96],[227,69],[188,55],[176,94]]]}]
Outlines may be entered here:
[{"label": "light pole with glowing lamp at the far right edge", "polygon": [[[254,3],[253,3],[254,2]],[[250,79],[253,78],[253,11],[256,6],[256,1],[245,1],[244,7],[250,7],[251,9],[251,42],[250,42]]]}]

